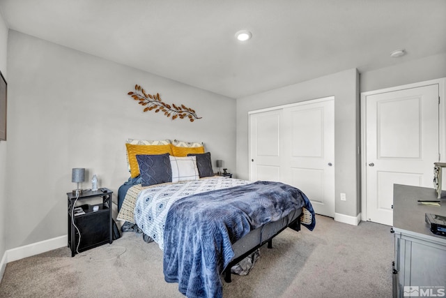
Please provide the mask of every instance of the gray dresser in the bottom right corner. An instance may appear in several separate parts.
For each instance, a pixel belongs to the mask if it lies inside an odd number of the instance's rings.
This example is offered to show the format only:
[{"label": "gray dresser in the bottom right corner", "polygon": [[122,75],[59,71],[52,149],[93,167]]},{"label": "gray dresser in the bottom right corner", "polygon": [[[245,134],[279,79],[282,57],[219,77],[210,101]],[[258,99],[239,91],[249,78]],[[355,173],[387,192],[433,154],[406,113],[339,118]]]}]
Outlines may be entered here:
[{"label": "gray dresser in the bottom right corner", "polygon": [[417,200],[438,200],[434,188],[394,184],[393,200],[394,297],[409,296],[409,290],[412,297],[445,297],[446,237],[429,230],[424,214],[446,216],[446,193],[441,207],[429,206]]}]

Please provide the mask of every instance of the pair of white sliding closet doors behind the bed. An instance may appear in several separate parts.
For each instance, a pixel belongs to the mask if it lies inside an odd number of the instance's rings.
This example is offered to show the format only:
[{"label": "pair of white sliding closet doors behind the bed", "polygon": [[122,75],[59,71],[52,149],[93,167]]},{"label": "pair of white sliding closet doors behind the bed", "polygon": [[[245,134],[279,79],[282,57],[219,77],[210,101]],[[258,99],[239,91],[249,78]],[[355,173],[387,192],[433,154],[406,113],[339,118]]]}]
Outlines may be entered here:
[{"label": "pair of white sliding closet doors behind the bed", "polygon": [[334,98],[252,112],[249,154],[250,180],[295,186],[334,217]]}]

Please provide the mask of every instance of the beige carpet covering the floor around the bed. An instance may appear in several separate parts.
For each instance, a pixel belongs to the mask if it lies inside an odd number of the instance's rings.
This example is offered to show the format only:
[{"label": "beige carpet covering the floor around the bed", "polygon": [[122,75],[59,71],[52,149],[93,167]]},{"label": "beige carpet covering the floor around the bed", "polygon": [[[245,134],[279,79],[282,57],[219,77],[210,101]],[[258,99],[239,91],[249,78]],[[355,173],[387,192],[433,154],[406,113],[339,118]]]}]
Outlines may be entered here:
[{"label": "beige carpet covering the floor around the bed", "polygon": [[[123,253],[125,251],[125,253]],[[162,251],[132,232],[71,258],[68,248],[10,262],[0,297],[183,297],[162,274]],[[123,253],[122,255],[120,255]],[[118,258],[116,258],[116,256]],[[261,248],[248,276],[224,297],[392,297],[390,227],[316,216],[316,229],[286,229]]]}]

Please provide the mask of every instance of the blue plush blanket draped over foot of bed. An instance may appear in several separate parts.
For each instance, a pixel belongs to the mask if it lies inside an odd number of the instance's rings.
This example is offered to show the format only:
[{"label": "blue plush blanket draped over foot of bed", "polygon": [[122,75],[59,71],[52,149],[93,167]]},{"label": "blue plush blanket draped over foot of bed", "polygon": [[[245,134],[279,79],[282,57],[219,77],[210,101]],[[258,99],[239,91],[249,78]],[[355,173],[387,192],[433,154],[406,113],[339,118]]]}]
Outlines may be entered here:
[{"label": "blue plush blanket draped over foot of bed", "polygon": [[314,211],[307,196],[286,184],[253,184],[199,193],[175,202],[164,227],[164,278],[187,297],[222,297],[220,274],[231,244],[293,209]]}]

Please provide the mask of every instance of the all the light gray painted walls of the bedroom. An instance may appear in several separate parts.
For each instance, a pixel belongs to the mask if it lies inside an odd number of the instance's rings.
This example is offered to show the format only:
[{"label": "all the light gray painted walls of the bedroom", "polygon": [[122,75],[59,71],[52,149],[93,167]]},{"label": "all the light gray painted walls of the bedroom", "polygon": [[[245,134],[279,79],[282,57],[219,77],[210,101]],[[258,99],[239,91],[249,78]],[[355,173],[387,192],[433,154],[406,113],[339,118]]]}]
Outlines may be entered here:
[{"label": "all the light gray painted walls of the bedroom", "polygon": [[[72,167],[86,167],[88,180],[98,174],[100,186],[117,191],[128,178],[128,137],[205,142],[214,161],[223,159],[231,172],[236,169],[237,177],[247,179],[247,112],[325,96],[335,97],[336,212],[356,216],[357,89],[446,77],[446,54],[439,54],[362,73],[360,82],[351,69],[232,100],[16,31],[7,40],[0,20],[0,69],[6,73],[7,61],[9,88],[8,142],[0,142],[0,258],[8,248],[66,234],[66,192],[75,187]],[[166,102],[194,108],[203,119],[191,124],[141,112],[126,95],[134,84],[160,92]],[[226,119],[224,126],[218,119]],[[346,202],[339,193],[346,193]]]}]

